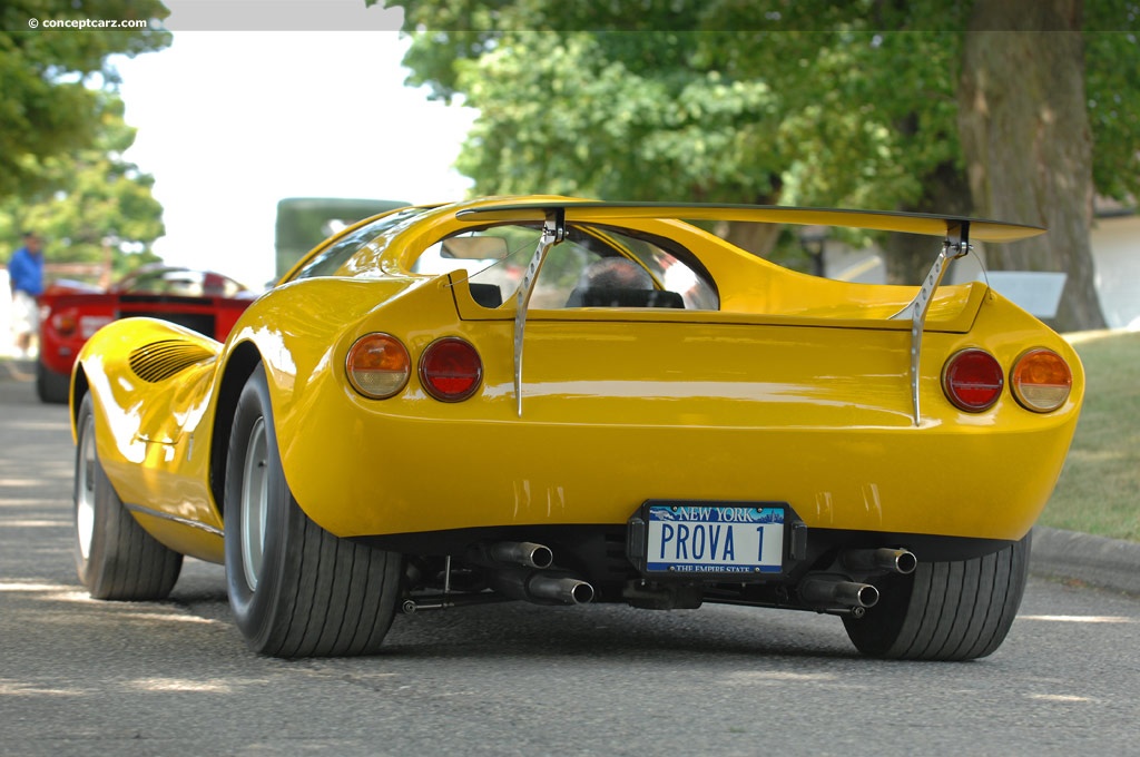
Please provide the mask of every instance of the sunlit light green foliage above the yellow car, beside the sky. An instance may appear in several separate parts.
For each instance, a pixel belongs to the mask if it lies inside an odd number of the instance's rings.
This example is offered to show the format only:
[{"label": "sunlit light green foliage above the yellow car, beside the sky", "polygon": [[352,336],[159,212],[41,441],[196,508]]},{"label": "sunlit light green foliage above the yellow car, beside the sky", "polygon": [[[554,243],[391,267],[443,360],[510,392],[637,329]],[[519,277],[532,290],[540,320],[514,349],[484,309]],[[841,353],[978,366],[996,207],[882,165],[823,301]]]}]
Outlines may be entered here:
[{"label": "sunlit light green foliage above the yellow car, beside the sky", "polygon": [[[409,83],[480,108],[457,165],[479,194],[657,200],[668,186],[678,198],[775,202],[784,161],[760,137],[777,125],[777,98],[764,81],[694,65],[699,6],[675,10],[643,9],[630,33],[621,5],[409,3],[405,27],[454,30],[415,38]],[[551,23],[570,31],[529,31]],[[757,231],[743,225],[730,238],[765,252],[771,239]]]}]

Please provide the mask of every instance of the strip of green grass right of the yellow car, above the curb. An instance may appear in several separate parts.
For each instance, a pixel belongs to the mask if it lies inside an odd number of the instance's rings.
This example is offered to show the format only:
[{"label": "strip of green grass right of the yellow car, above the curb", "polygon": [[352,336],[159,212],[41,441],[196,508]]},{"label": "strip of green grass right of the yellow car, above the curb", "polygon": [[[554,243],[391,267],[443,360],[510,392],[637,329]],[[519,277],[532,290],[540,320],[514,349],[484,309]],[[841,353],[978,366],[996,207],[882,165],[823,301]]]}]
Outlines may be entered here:
[{"label": "strip of green grass right of the yellow car, above the curb", "polygon": [[1042,526],[1140,542],[1140,333],[1075,335],[1084,407]]}]

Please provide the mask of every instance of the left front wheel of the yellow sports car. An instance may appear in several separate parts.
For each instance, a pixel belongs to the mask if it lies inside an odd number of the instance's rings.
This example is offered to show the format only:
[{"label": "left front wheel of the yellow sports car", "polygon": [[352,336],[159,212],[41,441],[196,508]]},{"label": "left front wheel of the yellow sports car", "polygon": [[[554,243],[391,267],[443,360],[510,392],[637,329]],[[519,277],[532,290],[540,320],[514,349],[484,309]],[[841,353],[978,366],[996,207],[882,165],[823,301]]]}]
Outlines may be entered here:
[{"label": "left front wheel of the yellow sports car", "polygon": [[95,406],[83,397],[75,447],[75,568],[97,600],[162,600],[182,555],[142,530],[123,507],[95,449]]}]

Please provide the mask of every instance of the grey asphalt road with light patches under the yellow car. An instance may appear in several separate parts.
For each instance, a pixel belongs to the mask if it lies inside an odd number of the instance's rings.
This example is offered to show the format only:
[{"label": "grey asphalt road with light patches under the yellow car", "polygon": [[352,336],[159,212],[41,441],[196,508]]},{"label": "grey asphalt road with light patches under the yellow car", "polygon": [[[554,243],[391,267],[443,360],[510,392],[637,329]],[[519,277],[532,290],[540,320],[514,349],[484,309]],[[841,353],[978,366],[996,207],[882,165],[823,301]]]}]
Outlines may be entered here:
[{"label": "grey asphalt road with light patches under the yellow car", "polygon": [[[5,366],[0,365],[0,369]],[[221,569],[170,601],[74,575],[63,407],[0,380],[0,755],[1134,754],[1140,601],[1034,579],[967,664],[858,657],[838,619],[521,603],[398,617],[375,658],[250,653]]]}]

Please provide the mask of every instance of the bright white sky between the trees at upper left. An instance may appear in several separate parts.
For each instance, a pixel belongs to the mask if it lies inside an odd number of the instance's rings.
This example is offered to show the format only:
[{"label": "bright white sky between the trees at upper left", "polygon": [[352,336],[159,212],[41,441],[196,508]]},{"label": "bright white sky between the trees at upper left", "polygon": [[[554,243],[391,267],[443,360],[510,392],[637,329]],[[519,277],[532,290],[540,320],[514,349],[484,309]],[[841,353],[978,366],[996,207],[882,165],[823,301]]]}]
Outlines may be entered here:
[{"label": "bright white sky between the trees at upper left", "polygon": [[[406,87],[400,11],[364,0],[166,0],[172,44],[117,58],[127,158],[155,179],[171,264],[274,276],[285,197],[446,202],[475,112]],[[267,14],[272,9],[272,16]],[[367,29],[370,31],[348,31]]]}]

